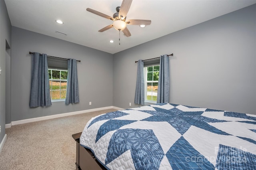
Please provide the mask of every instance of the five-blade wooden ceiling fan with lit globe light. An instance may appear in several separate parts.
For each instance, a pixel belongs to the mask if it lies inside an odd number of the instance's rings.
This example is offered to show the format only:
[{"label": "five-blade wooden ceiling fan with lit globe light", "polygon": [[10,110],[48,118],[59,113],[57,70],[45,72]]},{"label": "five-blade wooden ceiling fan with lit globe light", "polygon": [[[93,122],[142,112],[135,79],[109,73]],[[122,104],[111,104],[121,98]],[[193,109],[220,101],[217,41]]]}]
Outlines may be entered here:
[{"label": "five-blade wooden ceiling fan with lit globe light", "polygon": [[98,32],[104,32],[114,27],[119,32],[122,31],[126,37],[130,37],[131,33],[126,27],[126,24],[139,25],[141,27],[151,24],[151,20],[126,20],[126,15],[130,9],[131,4],[132,4],[132,0],[123,0],[121,6],[116,7],[116,13],[113,15],[113,17],[103,14],[101,12],[98,12],[96,10],[92,10],[90,8],[86,8],[86,10],[98,16],[114,21],[113,24],[110,24],[109,26],[102,28]]}]

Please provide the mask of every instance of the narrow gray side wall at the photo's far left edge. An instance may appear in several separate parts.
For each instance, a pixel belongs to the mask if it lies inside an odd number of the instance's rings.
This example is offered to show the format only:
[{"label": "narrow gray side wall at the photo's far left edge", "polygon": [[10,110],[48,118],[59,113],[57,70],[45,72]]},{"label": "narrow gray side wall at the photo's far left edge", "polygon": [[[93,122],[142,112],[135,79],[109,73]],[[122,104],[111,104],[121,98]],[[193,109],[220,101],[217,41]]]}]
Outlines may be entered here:
[{"label": "narrow gray side wall at the photo's far left edge", "polygon": [[[10,57],[10,49],[6,51],[7,46],[11,46],[11,23],[6,10],[6,5],[3,0],[0,0],[0,67],[2,69],[0,75],[0,142],[4,138],[5,134],[5,87],[6,87],[6,57]],[[8,59],[9,60],[9,59]],[[7,61],[8,62],[8,61]],[[10,84],[7,84],[10,86]]]}]

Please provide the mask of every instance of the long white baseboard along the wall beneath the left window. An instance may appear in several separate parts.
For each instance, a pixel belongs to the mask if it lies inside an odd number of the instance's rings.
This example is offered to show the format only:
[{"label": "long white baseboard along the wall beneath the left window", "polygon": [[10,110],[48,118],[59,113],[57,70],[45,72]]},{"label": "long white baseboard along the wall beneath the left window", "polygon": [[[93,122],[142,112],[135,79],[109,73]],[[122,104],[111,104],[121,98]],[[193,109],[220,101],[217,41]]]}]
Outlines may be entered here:
[{"label": "long white baseboard along the wall beneath the left window", "polygon": [[20,125],[20,124],[24,124],[24,123],[30,123],[30,122],[36,122],[36,121],[44,121],[44,120],[54,119],[54,118],[58,118],[58,117],[78,115],[78,114],[82,114],[82,113],[101,111],[101,110],[106,110],[106,109],[123,110],[122,108],[114,107],[114,106],[100,107],[100,108],[88,109],[88,110],[84,110],[84,111],[76,111],[76,112],[70,112],[70,113],[61,113],[61,114],[57,114],[57,115],[50,115],[50,116],[44,116],[44,117],[36,117],[36,118],[24,119],[24,120],[20,120],[20,121],[12,121],[10,124],[6,124],[5,128],[10,128],[12,125]]}]

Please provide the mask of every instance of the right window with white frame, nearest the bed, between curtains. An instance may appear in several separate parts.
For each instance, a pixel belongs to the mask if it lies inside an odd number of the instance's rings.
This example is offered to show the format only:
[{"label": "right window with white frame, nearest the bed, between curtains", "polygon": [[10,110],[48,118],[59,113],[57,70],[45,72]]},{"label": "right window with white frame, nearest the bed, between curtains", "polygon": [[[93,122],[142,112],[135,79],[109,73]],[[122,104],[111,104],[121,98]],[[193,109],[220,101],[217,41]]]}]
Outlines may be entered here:
[{"label": "right window with white frame, nearest the bed, between curtains", "polygon": [[144,67],[145,101],[156,103],[158,90],[159,65]]}]

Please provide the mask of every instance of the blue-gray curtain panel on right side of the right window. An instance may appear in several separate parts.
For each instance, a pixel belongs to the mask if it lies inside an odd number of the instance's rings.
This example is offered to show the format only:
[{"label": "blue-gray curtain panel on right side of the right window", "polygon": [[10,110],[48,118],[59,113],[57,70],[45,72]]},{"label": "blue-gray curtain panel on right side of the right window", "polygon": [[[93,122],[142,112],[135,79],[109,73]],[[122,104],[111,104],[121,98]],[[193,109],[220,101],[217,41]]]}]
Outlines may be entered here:
[{"label": "blue-gray curtain panel on right side of the right window", "polygon": [[159,79],[156,103],[169,103],[170,97],[170,68],[169,56],[160,56]]}]

